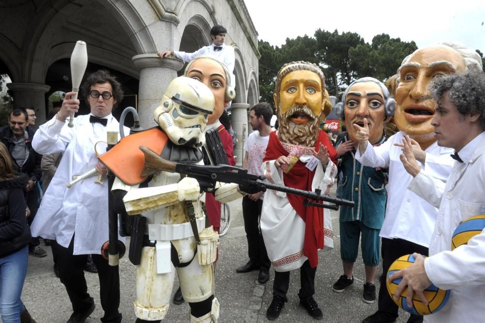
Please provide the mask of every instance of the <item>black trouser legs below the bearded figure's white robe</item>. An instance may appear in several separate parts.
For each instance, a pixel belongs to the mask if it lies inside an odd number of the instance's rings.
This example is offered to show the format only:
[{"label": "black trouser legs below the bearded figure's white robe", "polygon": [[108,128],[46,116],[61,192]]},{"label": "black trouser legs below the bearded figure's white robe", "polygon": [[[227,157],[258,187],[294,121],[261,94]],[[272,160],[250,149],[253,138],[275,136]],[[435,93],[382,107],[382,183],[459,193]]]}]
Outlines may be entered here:
[{"label": "black trouser legs below the bearded figure's white robe", "polygon": [[[298,297],[300,300],[307,300],[315,294],[315,273],[317,267],[311,268],[307,260],[300,268],[300,291]],[[273,282],[273,296],[283,302],[288,302],[286,293],[290,286],[290,272],[276,272],[275,281]]]}]

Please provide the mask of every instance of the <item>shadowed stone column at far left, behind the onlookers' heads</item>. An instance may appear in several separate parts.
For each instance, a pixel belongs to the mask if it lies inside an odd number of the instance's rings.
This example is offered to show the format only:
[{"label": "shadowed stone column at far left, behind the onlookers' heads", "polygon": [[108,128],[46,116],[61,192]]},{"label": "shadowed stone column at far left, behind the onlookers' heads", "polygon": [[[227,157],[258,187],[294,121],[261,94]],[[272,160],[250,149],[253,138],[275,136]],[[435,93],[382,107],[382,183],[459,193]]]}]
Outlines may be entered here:
[{"label": "shadowed stone column at far left, behind the onlookers' heads", "polygon": [[12,91],[14,108],[32,108],[37,120],[36,126],[46,122],[46,96],[50,86],[40,83],[15,82],[7,83],[7,88]]}]

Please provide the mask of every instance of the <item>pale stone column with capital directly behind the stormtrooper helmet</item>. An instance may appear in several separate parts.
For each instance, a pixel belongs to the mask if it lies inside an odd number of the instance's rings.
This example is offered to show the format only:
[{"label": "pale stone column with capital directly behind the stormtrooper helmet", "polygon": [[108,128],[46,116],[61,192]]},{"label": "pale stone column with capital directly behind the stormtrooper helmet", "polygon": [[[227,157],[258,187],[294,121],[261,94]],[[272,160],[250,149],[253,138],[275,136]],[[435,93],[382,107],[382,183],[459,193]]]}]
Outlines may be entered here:
[{"label": "pale stone column with capital directly behind the stormtrooper helmet", "polygon": [[156,125],[153,111],[160,105],[165,89],[177,77],[183,62],[170,57],[161,59],[157,54],[136,55],[131,60],[140,69],[138,114],[140,124],[147,129]]}]

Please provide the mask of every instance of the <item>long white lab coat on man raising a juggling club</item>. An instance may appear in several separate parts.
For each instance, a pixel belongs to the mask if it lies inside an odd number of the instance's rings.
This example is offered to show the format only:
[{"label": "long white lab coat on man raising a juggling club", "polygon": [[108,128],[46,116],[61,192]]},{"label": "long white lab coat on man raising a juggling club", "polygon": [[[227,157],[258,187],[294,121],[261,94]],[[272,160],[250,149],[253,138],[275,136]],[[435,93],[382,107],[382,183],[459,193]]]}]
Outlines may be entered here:
[{"label": "long white lab coat on man raising a juggling club", "polygon": [[[56,239],[67,248],[74,237],[74,255],[101,254],[101,246],[108,241],[108,181],[95,183],[97,176],[81,180],[71,188],[66,183],[74,175],[82,175],[96,166],[97,152],[106,151],[107,131],[119,131],[113,115],[107,116],[107,127],[90,123],[89,114],[74,118],[69,128],[55,117],[40,126],[32,140],[32,147],[40,154],[63,152],[62,160],[44,194],[32,222],[32,236]],[[125,134],[129,129],[125,127]],[[119,237],[121,241],[124,238]]]}]

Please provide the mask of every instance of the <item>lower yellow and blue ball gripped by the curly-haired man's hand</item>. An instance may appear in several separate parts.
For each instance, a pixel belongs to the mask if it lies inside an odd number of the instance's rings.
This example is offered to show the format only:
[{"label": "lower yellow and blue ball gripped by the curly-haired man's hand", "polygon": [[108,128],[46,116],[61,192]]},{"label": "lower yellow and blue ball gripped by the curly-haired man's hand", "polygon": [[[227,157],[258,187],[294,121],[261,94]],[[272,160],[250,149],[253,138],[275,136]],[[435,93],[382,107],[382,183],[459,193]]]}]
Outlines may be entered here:
[{"label": "lower yellow and blue ball gripped by the curly-haired man's hand", "polygon": [[[406,268],[414,261],[415,259],[413,255],[405,255],[403,257],[398,258],[389,267],[388,277],[393,273]],[[437,311],[439,311],[441,308],[445,306],[446,302],[448,301],[448,298],[450,297],[450,291],[443,291],[437,288],[435,285],[431,285],[430,287],[428,287],[423,291],[424,297],[429,302],[428,305],[424,305],[424,303],[421,302],[420,298],[415,293],[413,295],[413,306],[408,307],[407,297],[406,297],[407,287],[401,293],[401,296],[399,297],[399,299],[397,301],[394,300],[394,296],[393,296],[394,292],[396,291],[397,286],[399,285],[401,280],[402,278],[395,279],[392,282],[389,282],[388,280],[386,280],[388,292],[392,300],[394,301],[394,303],[397,304],[397,306],[401,307],[402,309],[404,309],[405,311],[411,314],[428,315],[428,314],[436,313]]]}]

